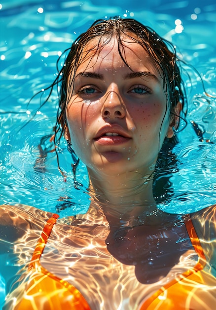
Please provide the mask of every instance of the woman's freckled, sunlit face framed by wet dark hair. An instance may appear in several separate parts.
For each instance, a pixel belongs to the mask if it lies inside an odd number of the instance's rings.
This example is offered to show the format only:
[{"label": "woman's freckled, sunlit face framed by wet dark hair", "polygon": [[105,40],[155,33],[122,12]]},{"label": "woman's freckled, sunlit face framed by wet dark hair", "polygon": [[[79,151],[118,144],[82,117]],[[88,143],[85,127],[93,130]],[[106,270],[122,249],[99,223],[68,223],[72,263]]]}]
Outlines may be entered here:
[{"label": "woman's freckled, sunlit face framed by wet dark hair", "polygon": [[84,49],[75,72],[66,138],[89,171],[145,175],[152,172],[164,138],[172,136],[163,79],[132,39],[122,39],[129,67],[115,38],[97,52],[87,52],[97,41]]}]

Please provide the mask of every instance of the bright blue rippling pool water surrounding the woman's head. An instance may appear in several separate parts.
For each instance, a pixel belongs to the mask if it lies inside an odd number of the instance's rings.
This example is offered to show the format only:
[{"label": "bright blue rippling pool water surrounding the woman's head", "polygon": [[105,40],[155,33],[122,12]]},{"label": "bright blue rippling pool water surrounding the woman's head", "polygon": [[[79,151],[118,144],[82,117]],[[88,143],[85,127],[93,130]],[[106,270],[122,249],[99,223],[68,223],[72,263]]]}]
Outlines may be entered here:
[{"label": "bright blue rippling pool water surrounding the woman's head", "polygon": [[[58,171],[55,153],[40,158],[40,140],[52,134],[55,124],[57,93],[39,110],[39,96],[27,104],[51,84],[58,57],[94,20],[120,15],[152,27],[176,45],[179,57],[199,71],[206,91],[216,95],[214,0],[101,2],[0,0],[0,204],[22,203],[59,212],[62,217],[87,210],[86,170],[80,163],[76,178],[82,186],[74,189],[65,141],[60,145],[60,166],[67,173],[67,182]],[[192,212],[216,202],[216,99],[205,96],[199,76],[184,67],[190,73],[188,77],[183,72],[188,124],[174,149],[179,162],[170,175],[174,196],[160,205],[173,213]],[[204,132],[204,141],[191,120]],[[43,147],[49,148],[49,144],[47,140]],[[1,277],[0,282],[3,297]]]}]

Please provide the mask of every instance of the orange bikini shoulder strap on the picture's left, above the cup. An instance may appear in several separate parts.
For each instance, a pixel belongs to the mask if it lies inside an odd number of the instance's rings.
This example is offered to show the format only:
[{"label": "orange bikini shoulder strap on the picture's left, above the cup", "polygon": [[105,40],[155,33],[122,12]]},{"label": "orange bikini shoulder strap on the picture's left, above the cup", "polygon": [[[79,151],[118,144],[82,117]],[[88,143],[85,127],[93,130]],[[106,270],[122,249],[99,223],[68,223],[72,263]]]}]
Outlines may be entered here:
[{"label": "orange bikini shoulder strap on the picture's left, above the cup", "polygon": [[35,267],[35,263],[36,261],[39,261],[43,250],[45,248],[45,245],[47,243],[47,240],[50,236],[50,233],[52,231],[53,226],[55,225],[57,219],[59,218],[58,214],[53,214],[45,223],[44,227],[43,227],[43,231],[40,235],[40,238],[38,239],[37,243],[36,243],[36,247],[35,247],[35,251],[33,253],[30,265],[29,265],[29,269],[31,269],[32,267]]}]

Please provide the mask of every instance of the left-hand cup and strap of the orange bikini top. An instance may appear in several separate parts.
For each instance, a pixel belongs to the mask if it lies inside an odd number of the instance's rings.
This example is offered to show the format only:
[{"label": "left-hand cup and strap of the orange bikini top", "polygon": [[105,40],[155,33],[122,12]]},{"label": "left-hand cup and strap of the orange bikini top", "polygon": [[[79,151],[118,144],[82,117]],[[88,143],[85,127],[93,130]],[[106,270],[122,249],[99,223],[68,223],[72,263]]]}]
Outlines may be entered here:
[{"label": "left-hand cup and strap of the orange bikini top", "polygon": [[48,272],[40,264],[58,214],[53,214],[37,241],[29,270],[32,272],[21,302],[15,310],[91,310],[82,294],[70,283]]}]

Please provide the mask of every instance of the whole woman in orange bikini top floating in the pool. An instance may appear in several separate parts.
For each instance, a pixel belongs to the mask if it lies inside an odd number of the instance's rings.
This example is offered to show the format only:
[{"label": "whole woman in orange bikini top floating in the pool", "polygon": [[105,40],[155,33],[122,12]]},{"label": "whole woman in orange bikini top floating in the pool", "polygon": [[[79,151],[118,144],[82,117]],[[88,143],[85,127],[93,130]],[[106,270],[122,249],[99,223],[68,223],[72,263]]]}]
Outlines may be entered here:
[{"label": "whole woman in orange bikini top floating in the pool", "polygon": [[64,134],[74,172],[77,158],[86,164],[91,205],[70,225],[1,207],[3,251],[24,266],[3,309],[214,308],[216,206],[169,214],[153,195],[185,101],[176,60],[132,19],[97,21],[72,44],[52,85],[61,82],[55,144]]}]

